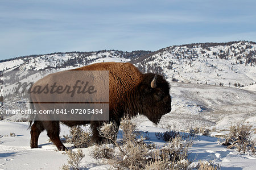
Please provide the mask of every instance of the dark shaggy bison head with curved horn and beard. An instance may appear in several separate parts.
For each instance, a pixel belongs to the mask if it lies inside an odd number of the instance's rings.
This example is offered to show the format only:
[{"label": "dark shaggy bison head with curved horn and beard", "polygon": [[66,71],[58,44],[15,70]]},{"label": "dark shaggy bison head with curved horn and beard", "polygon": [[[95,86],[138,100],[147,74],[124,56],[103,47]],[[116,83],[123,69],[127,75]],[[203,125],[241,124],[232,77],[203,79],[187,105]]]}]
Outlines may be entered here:
[{"label": "dark shaggy bison head with curved horn and beard", "polygon": [[171,111],[170,85],[158,74],[143,74],[139,86],[141,93],[141,109],[139,114],[145,115],[151,122],[157,124],[160,118]]}]

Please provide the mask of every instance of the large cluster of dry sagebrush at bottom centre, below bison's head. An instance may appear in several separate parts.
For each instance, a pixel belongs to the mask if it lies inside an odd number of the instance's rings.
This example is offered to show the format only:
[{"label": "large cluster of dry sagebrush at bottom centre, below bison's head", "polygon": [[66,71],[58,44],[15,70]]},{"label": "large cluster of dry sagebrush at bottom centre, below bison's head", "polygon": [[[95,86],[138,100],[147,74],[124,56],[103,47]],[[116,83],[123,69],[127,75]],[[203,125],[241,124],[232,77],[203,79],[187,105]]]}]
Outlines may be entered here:
[{"label": "large cluster of dry sagebrush at bottom centre, below bison's head", "polygon": [[120,127],[123,135],[122,142],[116,141],[115,123],[104,124],[99,129],[100,135],[111,140],[118,150],[106,147],[108,145],[97,146],[92,152],[94,158],[108,159],[112,169],[185,169],[188,167],[190,162],[187,156],[188,148],[192,146],[191,140],[184,140],[176,135],[163,148],[156,149],[154,144],[146,144],[142,136],[139,138],[137,126],[129,119],[123,119]]}]

